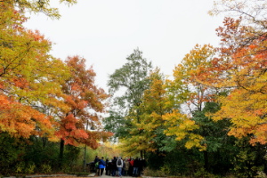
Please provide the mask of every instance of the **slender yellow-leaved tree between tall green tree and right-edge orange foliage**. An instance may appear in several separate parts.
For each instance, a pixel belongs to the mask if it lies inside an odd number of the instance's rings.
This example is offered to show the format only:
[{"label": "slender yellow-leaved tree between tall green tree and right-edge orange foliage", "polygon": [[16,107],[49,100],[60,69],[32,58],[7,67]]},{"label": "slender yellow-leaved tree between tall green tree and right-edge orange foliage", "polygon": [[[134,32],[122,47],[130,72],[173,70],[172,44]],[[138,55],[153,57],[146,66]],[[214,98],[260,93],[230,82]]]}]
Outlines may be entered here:
[{"label": "slender yellow-leaved tree between tall green tree and right-edge orange foliage", "polygon": [[[210,66],[210,60],[214,56],[214,48],[211,45],[196,45],[190,53],[182,59],[182,62],[174,69],[174,81],[168,81],[167,90],[174,95],[174,101],[182,105],[182,109],[174,109],[166,114],[167,135],[176,135],[177,141],[188,139],[185,146],[190,149],[193,146],[204,153],[205,167],[208,168],[206,151],[206,129],[204,125],[195,122],[193,115],[201,112],[207,101],[214,101],[214,93],[218,91],[198,82],[198,75]],[[188,108],[188,109],[185,109]],[[188,110],[188,111],[187,111]],[[187,116],[186,116],[187,114]],[[202,127],[203,133],[192,132]]]}]

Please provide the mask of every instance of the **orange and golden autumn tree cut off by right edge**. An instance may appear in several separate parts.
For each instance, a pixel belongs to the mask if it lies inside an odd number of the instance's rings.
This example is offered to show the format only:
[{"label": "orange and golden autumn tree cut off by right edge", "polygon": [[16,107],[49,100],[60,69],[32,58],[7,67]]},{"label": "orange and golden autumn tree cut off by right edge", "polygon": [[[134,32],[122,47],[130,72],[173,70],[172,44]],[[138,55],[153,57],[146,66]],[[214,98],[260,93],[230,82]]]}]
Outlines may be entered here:
[{"label": "orange and golden autumn tree cut off by right edge", "polygon": [[224,27],[217,29],[222,47],[199,81],[231,89],[228,96],[218,98],[222,109],[214,114],[214,120],[230,118],[233,125],[229,134],[238,138],[252,135],[252,144],[265,144],[266,2],[215,2],[211,14],[221,12],[240,17],[225,18]]}]

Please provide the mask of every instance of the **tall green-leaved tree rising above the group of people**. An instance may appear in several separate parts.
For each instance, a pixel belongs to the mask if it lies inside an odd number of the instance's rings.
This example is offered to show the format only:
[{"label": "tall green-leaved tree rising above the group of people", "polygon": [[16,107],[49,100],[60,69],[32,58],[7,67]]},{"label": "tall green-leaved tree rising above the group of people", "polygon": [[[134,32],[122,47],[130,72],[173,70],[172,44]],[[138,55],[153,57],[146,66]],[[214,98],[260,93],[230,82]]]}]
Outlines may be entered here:
[{"label": "tall green-leaved tree rising above the group of people", "polygon": [[[120,69],[109,75],[109,94],[112,96],[109,117],[104,120],[105,129],[114,133],[115,137],[126,136],[131,125],[125,116],[134,107],[142,103],[142,94],[149,87],[150,79],[148,78],[151,62],[142,57],[139,49],[126,58],[126,63]],[[120,90],[122,89],[122,90]],[[118,95],[122,91],[122,95]],[[140,119],[140,111],[136,118]],[[116,124],[115,124],[116,123]],[[115,125],[114,125],[115,124]]]}]

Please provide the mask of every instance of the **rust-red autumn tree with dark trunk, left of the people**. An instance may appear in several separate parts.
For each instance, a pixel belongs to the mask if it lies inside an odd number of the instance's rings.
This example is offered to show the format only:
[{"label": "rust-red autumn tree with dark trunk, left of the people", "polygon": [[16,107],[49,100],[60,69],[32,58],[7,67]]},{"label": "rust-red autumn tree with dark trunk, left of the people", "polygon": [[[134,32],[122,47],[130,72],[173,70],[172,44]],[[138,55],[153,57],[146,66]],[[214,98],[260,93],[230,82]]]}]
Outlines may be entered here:
[{"label": "rust-red autumn tree with dark trunk, left of the people", "polygon": [[[84,143],[96,149],[105,142],[111,133],[100,131],[101,113],[106,112],[108,95],[94,84],[93,68],[85,69],[85,59],[79,56],[68,57],[66,60],[71,75],[62,86],[67,95],[65,103],[69,106],[67,112],[61,111],[60,130],[56,133],[61,139],[60,159],[62,161],[64,145],[77,146]],[[94,127],[97,131],[86,131],[85,125]]]}]

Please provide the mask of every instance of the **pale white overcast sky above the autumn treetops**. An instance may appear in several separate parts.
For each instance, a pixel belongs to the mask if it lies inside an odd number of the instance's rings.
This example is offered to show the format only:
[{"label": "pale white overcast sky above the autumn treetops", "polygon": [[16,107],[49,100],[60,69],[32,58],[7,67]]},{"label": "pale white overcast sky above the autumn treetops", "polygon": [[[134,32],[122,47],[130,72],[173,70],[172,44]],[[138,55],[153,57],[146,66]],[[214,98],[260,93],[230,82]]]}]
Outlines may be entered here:
[{"label": "pale white overcast sky above the autumn treetops", "polygon": [[[57,2],[53,0],[53,2]],[[55,4],[61,19],[31,14],[25,24],[53,43],[53,56],[65,60],[80,55],[93,65],[96,84],[108,92],[108,74],[125,64],[139,47],[143,57],[166,75],[195,44],[220,42],[215,28],[223,17],[211,17],[213,0],[78,0],[73,6]],[[54,5],[54,3],[53,3]]]}]

